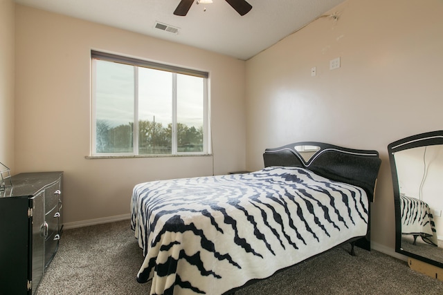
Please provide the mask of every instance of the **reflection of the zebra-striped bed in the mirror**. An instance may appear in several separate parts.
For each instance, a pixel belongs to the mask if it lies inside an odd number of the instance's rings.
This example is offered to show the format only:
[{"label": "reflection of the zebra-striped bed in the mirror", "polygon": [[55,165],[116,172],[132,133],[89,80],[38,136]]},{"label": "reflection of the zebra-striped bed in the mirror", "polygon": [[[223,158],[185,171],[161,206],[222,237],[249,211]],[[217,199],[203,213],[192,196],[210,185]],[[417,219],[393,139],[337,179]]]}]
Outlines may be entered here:
[{"label": "reflection of the zebra-striped bed in the mirror", "polygon": [[419,236],[428,244],[438,245],[433,214],[426,202],[401,193],[400,212],[401,234],[413,235],[413,245],[416,245]]}]

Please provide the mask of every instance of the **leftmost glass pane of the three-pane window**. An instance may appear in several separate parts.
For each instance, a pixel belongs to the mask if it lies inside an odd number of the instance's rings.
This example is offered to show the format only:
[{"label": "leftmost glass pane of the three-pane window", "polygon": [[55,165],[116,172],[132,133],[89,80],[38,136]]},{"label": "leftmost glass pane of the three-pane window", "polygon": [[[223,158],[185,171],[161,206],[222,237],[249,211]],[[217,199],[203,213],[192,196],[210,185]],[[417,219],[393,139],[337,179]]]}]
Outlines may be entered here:
[{"label": "leftmost glass pane of the three-pane window", "polygon": [[133,153],[134,66],[96,60],[96,152]]}]

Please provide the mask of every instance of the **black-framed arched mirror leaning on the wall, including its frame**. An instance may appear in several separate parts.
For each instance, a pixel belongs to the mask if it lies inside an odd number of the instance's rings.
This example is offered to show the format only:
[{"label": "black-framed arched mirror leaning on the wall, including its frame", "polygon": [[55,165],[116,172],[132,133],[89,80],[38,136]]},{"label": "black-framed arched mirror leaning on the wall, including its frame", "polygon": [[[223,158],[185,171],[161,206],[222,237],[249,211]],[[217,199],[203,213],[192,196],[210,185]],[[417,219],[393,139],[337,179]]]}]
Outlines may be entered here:
[{"label": "black-framed arched mirror leaning on the wall, including its frame", "polygon": [[443,267],[443,131],[388,145],[395,251]]}]

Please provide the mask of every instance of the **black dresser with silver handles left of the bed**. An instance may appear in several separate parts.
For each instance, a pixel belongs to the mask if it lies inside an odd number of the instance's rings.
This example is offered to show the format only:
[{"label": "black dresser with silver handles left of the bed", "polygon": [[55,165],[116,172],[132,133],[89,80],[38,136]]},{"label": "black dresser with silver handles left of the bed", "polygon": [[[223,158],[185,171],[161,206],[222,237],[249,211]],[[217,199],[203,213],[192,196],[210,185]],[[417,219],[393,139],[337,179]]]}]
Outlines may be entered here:
[{"label": "black dresser with silver handles left of the bed", "polygon": [[0,191],[0,295],[35,294],[57,252],[62,172],[20,173]]}]

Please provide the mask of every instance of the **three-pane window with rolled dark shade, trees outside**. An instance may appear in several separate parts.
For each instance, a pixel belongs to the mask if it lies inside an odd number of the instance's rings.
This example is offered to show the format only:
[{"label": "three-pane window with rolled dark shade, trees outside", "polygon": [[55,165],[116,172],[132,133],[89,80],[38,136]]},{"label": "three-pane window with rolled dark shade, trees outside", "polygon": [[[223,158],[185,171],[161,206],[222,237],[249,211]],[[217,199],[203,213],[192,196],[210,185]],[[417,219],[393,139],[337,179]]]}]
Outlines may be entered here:
[{"label": "three-pane window with rolled dark shade, trees outside", "polygon": [[208,153],[208,73],[91,52],[92,155]]}]

